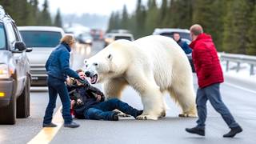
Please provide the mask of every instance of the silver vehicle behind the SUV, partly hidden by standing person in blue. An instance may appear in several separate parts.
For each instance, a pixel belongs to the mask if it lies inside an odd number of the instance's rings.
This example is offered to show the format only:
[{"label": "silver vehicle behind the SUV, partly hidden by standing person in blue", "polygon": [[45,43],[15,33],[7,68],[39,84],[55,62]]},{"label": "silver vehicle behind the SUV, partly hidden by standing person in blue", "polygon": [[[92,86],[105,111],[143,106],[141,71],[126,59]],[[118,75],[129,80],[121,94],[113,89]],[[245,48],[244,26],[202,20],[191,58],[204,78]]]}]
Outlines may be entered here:
[{"label": "silver vehicle behind the SUV, partly hidden by standing person in blue", "polygon": [[28,54],[33,86],[46,86],[46,60],[59,40],[64,35],[64,30],[55,26],[18,26],[26,46],[33,47]]}]

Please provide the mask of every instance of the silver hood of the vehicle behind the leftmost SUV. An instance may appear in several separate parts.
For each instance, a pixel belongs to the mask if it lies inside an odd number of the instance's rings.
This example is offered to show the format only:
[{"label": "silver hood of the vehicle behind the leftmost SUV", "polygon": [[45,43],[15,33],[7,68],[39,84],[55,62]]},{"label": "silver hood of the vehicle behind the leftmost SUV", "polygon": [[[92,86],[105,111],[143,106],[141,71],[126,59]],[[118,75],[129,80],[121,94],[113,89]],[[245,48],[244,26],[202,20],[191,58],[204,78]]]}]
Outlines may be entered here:
[{"label": "silver hood of the vehicle behind the leftmost SUV", "polygon": [[43,47],[34,47],[30,53],[26,53],[27,57],[30,60],[30,65],[41,65],[44,66],[46,64],[47,59],[50,56],[50,53],[54,50],[54,48],[43,48]]}]

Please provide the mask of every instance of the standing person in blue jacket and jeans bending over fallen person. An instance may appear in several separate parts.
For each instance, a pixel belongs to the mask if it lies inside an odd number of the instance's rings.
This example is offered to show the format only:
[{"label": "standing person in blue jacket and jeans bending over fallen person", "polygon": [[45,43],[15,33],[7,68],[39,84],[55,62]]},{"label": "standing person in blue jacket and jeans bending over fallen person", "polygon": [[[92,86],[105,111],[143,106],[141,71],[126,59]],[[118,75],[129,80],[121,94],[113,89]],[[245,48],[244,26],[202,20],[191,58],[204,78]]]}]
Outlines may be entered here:
[{"label": "standing person in blue jacket and jeans bending over fallen person", "polygon": [[65,81],[67,75],[79,79],[78,74],[70,69],[70,50],[74,47],[75,40],[71,35],[64,36],[61,43],[52,51],[46,62],[46,71],[48,74],[47,85],[49,89],[49,103],[46,107],[46,114],[43,119],[43,127],[55,127],[51,122],[54,108],[56,105],[57,94],[62,101],[62,117],[65,127],[78,127],[79,125],[72,121],[70,115],[70,97],[66,89]]}]

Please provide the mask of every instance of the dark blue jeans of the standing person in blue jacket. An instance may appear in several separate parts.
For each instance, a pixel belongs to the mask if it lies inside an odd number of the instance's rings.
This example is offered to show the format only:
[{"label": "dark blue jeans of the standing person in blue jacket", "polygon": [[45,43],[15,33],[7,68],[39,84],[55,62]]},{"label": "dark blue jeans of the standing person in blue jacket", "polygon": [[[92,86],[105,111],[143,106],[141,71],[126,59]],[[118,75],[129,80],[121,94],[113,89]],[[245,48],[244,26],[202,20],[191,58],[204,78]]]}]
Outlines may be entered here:
[{"label": "dark blue jeans of the standing person in blue jacket", "polygon": [[52,120],[54,108],[56,106],[57,94],[62,101],[62,117],[64,118],[64,123],[72,122],[72,117],[70,115],[70,96],[66,89],[65,83],[58,78],[49,76],[47,78],[47,84],[49,89],[49,103],[46,108],[43,123],[48,124]]}]

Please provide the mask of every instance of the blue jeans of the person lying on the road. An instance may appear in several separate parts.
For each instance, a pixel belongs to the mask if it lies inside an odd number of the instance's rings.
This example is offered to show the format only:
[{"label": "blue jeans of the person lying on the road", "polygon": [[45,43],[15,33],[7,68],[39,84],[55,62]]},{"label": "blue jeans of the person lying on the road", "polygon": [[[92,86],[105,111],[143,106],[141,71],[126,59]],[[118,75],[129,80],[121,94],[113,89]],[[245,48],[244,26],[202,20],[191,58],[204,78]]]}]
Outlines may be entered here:
[{"label": "blue jeans of the person lying on the road", "polygon": [[139,110],[129,106],[126,102],[120,101],[118,98],[113,98],[105,102],[100,102],[97,105],[85,110],[84,116],[86,119],[103,119],[112,120],[114,109],[118,109],[125,114],[130,114],[136,118],[139,114]]}]

